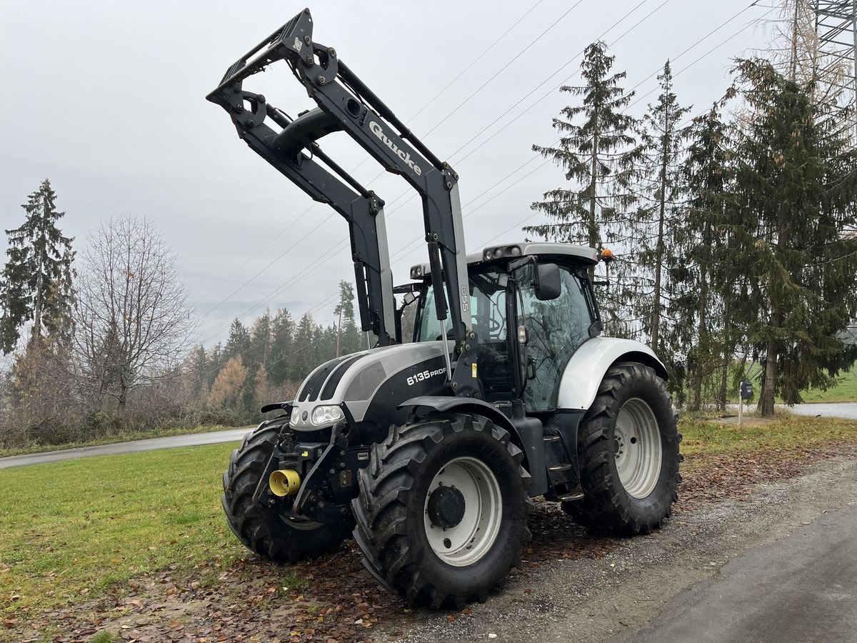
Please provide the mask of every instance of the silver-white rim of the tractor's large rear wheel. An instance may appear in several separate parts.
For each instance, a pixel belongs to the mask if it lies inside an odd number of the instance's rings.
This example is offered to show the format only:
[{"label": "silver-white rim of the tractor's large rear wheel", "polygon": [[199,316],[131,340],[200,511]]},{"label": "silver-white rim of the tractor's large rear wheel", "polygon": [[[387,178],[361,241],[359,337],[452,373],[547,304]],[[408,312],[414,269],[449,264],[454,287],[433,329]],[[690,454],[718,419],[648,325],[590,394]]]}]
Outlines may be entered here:
[{"label": "silver-white rim of the tractor's large rear wheel", "polygon": [[655,413],[639,398],[620,408],[614,430],[616,472],[627,494],[644,498],[661,476],[661,431]]}]

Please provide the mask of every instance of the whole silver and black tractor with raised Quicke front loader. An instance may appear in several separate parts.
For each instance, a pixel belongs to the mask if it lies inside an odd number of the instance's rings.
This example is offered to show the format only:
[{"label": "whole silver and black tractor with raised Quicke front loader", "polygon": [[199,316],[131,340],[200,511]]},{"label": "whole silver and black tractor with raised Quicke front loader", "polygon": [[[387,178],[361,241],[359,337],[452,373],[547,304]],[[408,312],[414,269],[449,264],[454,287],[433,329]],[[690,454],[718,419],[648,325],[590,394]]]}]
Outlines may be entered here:
[{"label": "whole silver and black tractor with raised Quicke front loader", "polygon": [[[243,88],[280,61],[314,109],[290,117]],[[353,537],[388,589],[460,607],[520,564],[530,498],[608,532],[662,525],[680,434],[654,352],[600,336],[590,268],[606,253],[521,242],[467,255],[458,174],[315,42],[309,9],[207,98],[255,153],[348,222],[361,325],[377,338],[318,366],[294,400],[263,407],[279,416],[232,454],[223,506],[243,544],[294,562]],[[393,286],[384,201],[321,149],[338,131],[421,197],[428,262],[403,285]]]}]

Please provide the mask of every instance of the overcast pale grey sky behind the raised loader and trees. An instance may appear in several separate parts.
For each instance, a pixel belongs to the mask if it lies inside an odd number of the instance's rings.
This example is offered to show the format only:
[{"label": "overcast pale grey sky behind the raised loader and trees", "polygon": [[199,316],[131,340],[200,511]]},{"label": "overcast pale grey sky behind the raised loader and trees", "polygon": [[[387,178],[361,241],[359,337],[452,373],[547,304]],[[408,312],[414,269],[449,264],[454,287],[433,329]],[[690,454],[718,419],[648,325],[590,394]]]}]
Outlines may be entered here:
[{"label": "overcast pale grey sky behind the raised loader and trees", "polygon": [[[157,225],[206,346],[225,340],[232,319],[251,322],[265,309],[310,310],[331,323],[339,279],[354,278],[345,220],[252,153],[205,100],[231,63],[304,6],[0,0],[3,229],[21,225],[20,204],[49,177],[76,249],[118,214]],[[579,82],[586,45],[608,43],[614,70],[635,89],[635,115],[655,100],[656,74],[671,59],[674,91],[695,115],[722,96],[731,60],[764,45],[754,21],[776,15],[770,0],[352,0],[310,9],[315,42],[333,46],[458,171],[469,251],[519,240],[522,225],[542,220],[530,203],[562,177],[531,146],[556,140],[551,118],[572,100],[557,87]],[[285,63],[244,87],[290,114],[315,106]],[[393,276],[406,281],[426,261],[416,193],[344,134],[322,147],[387,202]]]}]

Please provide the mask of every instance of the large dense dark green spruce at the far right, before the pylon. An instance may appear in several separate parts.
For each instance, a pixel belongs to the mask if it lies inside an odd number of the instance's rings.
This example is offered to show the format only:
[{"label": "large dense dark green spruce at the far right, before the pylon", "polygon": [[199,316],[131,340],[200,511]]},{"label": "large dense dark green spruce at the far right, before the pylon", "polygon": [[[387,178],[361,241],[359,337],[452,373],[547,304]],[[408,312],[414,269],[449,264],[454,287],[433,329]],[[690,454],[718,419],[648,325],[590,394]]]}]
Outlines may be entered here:
[{"label": "large dense dark green spruce at the far right, before the pylon", "polygon": [[[800,391],[826,388],[853,357],[836,339],[857,314],[854,225],[857,155],[831,101],[816,102],[770,63],[740,60],[746,115],[736,146],[737,201],[730,224],[750,290],[762,303],[746,334],[764,355],[759,408],[774,412]],[[747,261],[752,257],[752,261]]]}]

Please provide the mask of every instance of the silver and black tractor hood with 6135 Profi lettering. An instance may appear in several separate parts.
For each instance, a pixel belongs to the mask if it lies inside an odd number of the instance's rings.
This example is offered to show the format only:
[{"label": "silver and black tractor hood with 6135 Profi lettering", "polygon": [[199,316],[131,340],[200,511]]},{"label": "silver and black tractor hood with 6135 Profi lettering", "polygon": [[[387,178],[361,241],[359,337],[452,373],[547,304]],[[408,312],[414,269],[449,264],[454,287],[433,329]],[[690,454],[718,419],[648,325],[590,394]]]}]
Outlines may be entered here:
[{"label": "silver and black tractor hood with 6135 Profi lettering", "polygon": [[[452,341],[446,342],[446,350],[452,351]],[[321,364],[295,396],[291,428],[308,431],[334,424],[341,417],[330,407],[343,402],[360,422],[393,412],[417,395],[440,393],[446,382],[443,351],[443,341],[426,341],[380,346]]]}]

